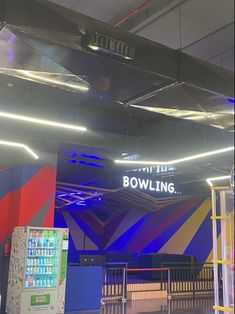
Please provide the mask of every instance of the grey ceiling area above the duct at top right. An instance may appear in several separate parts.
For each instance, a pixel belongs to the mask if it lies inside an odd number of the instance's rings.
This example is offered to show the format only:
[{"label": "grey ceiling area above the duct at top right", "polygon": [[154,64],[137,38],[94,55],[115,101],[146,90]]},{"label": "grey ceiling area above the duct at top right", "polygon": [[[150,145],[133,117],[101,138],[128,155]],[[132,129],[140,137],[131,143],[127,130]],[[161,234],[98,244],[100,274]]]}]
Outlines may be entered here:
[{"label": "grey ceiling area above the duct at top right", "polygon": [[51,0],[234,70],[233,0]]}]

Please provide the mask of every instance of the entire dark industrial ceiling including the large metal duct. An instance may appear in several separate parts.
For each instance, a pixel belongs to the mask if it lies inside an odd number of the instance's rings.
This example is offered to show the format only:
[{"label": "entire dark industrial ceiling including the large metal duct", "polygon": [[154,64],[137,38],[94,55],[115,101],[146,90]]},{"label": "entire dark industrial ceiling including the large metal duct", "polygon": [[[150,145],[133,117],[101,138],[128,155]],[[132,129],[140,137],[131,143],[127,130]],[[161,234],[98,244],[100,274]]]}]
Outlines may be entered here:
[{"label": "entire dark industrial ceiling including the large metal duct", "polygon": [[[123,154],[176,159],[233,145],[233,4],[0,0],[2,116],[88,129],[0,117],[0,140],[25,143],[45,162],[61,143],[95,148],[110,161]],[[1,166],[9,151],[1,152]],[[227,174],[232,163],[229,153],[181,165],[174,176],[197,182]]]}]

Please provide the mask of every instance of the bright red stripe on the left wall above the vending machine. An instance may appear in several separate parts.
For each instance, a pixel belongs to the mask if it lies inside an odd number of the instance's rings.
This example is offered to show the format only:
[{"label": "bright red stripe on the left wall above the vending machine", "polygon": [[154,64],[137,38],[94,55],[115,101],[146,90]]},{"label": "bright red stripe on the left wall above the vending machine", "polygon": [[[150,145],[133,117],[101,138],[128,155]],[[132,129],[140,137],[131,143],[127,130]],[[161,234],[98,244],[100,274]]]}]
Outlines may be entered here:
[{"label": "bright red stripe on the left wall above the vending machine", "polygon": [[0,200],[0,244],[11,236],[15,226],[27,226],[43,205],[52,198],[43,226],[54,224],[56,167],[45,166],[20,190]]}]

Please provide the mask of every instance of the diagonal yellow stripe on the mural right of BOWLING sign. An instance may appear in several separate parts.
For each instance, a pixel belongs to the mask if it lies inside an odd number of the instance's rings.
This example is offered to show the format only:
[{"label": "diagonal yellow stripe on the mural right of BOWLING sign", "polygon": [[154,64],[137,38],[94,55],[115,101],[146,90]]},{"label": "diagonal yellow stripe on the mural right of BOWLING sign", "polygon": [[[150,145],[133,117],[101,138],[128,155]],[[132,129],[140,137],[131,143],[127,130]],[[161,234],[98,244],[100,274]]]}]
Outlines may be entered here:
[{"label": "diagonal yellow stripe on the mural right of BOWLING sign", "polygon": [[[176,234],[168,240],[159,253],[174,252],[175,254],[183,254],[210,210],[211,199],[208,198],[183,224]],[[211,232],[211,230],[208,230],[208,232]]]}]

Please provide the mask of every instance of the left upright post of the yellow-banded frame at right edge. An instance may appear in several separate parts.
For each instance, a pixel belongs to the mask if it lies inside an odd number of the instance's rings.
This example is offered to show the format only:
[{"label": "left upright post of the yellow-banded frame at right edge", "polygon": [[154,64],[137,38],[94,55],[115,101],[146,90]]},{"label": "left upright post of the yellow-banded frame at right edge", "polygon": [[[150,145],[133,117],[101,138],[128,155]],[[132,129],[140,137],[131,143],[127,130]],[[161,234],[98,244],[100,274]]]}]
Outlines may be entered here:
[{"label": "left upright post of the yellow-banded frame at right edge", "polygon": [[[216,191],[212,190],[212,216],[216,216]],[[213,232],[213,260],[218,260],[217,248],[217,222],[212,219],[212,232]],[[218,279],[218,264],[214,262],[214,298],[215,305],[219,306],[219,279]],[[219,310],[215,310],[215,314],[219,314]]]}]

